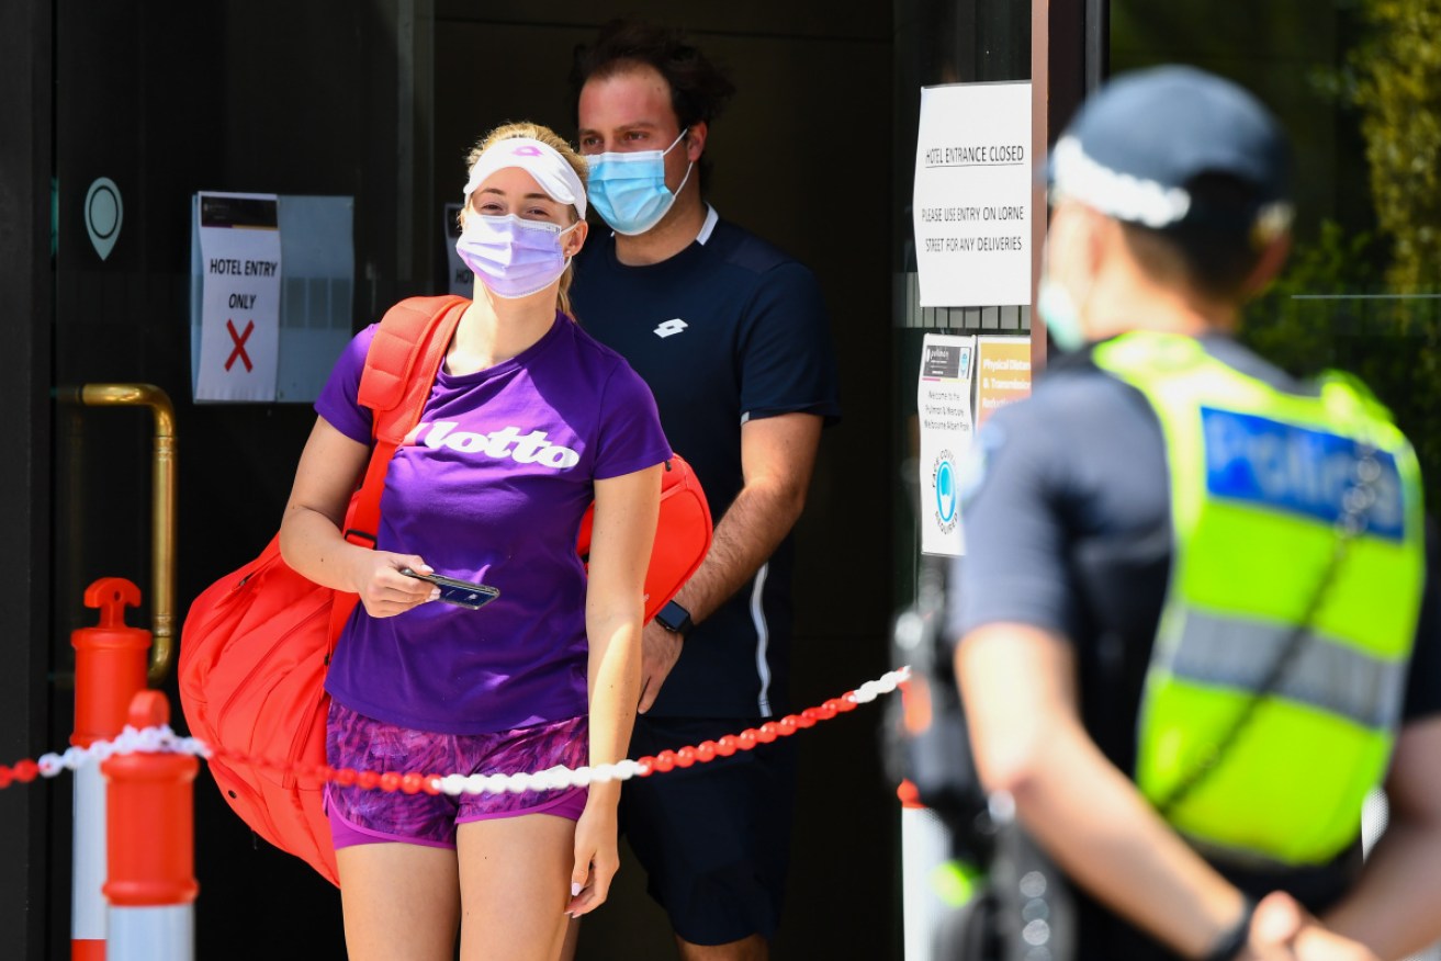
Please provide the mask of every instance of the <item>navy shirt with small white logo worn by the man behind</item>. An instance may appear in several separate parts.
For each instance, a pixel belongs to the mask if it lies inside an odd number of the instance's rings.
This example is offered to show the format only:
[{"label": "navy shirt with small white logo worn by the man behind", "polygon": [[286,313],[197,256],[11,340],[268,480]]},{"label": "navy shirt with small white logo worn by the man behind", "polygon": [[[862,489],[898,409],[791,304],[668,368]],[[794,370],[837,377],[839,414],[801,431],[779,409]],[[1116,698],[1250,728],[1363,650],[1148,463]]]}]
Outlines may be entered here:
[{"label": "navy shirt with small white logo worn by the man behind", "polygon": [[[591,231],[575,262],[575,317],[646,379],[672,450],[696,471],[719,523],[741,491],[741,425],[804,412],[840,415],[830,320],[814,275],[710,210],[670,259],[625,267]],[[650,713],[764,718],[785,703],[791,539],[687,635]]]}]

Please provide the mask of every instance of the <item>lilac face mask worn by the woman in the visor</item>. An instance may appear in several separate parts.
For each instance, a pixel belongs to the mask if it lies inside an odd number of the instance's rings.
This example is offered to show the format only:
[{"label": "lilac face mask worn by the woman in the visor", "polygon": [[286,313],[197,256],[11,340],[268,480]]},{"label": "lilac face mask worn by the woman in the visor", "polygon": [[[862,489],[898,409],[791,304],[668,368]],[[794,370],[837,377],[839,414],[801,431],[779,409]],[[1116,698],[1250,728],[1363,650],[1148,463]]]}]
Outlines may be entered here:
[{"label": "lilac face mask worn by the woman in the visor", "polygon": [[571,258],[561,249],[561,238],[578,225],[562,231],[559,223],[525,220],[514,213],[471,213],[455,252],[496,297],[529,297],[565,272]]}]

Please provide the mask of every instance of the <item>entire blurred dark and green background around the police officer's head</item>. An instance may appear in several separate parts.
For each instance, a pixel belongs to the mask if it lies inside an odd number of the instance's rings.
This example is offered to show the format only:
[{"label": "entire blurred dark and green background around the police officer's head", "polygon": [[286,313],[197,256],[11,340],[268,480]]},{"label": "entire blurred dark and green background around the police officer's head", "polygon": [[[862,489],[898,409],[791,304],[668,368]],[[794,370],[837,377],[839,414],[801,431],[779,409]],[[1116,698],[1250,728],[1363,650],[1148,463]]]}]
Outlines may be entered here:
[{"label": "entire blurred dark and green background around the police officer's head", "polygon": [[1441,511],[1441,0],[1111,0],[1111,65],[1195,63],[1255,91],[1297,151],[1297,246],[1242,339],[1340,367],[1395,412]]}]

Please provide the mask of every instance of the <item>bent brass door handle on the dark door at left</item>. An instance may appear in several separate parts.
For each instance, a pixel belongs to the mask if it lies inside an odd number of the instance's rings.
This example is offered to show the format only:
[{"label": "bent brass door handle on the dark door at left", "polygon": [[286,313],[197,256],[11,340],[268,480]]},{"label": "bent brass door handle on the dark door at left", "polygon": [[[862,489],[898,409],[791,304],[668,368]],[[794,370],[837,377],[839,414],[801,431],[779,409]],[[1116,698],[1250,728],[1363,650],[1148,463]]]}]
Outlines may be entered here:
[{"label": "bent brass door handle on the dark door at left", "polygon": [[176,598],[176,416],[170,396],[153,383],[86,383],[85,406],[146,406],[154,415],[150,471],[151,647],[147,679],[159,684],[174,660]]}]

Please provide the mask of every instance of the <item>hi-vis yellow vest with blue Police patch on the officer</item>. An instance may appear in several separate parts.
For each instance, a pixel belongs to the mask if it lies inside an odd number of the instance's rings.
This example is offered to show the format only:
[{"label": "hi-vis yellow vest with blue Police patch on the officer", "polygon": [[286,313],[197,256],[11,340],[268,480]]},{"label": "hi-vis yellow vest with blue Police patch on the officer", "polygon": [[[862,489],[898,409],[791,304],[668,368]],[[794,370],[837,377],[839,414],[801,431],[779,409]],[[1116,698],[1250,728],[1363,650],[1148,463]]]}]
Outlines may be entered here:
[{"label": "hi-vis yellow vest with blue Police patch on the officer", "polygon": [[[1319,864],[1357,836],[1391,758],[1424,579],[1421,471],[1389,412],[1329,373],[1282,393],[1190,337],[1136,331],[1095,363],[1160,418],[1174,559],[1141,699],[1136,781],[1197,847]],[[1306,620],[1365,451],[1379,468],[1365,529],[1307,637],[1235,741],[1221,741]],[[1213,762],[1213,764],[1212,764]]]}]

